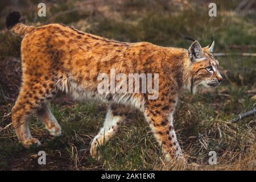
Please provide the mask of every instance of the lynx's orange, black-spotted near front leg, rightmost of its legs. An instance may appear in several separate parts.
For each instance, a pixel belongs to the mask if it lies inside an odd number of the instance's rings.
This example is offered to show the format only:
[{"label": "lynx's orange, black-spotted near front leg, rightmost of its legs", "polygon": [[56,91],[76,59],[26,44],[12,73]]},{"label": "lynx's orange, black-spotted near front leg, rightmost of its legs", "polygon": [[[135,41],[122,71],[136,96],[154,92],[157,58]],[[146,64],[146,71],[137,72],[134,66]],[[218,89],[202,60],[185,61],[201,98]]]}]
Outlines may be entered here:
[{"label": "lynx's orange, black-spotted near front leg, rightmost of its legs", "polygon": [[175,106],[175,97],[162,98],[162,101],[150,100],[144,112],[152,133],[166,154],[166,162],[175,158],[184,160],[173,125]]}]

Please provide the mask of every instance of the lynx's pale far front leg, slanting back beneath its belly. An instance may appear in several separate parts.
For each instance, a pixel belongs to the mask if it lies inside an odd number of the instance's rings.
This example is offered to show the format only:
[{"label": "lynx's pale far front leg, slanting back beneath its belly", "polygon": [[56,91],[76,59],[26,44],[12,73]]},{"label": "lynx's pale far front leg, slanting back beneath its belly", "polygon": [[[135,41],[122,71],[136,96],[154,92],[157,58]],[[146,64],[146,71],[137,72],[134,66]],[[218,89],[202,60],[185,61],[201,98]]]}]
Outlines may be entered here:
[{"label": "lynx's pale far front leg, slanting back beneath its belly", "polygon": [[104,126],[100,129],[96,137],[94,137],[90,147],[90,154],[93,158],[100,159],[98,147],[104,145],[110,138],[114,137],[121,126],[121,122],[125,119],[125,113],[127,113],[125,106],[110,105],[106,114]]}]

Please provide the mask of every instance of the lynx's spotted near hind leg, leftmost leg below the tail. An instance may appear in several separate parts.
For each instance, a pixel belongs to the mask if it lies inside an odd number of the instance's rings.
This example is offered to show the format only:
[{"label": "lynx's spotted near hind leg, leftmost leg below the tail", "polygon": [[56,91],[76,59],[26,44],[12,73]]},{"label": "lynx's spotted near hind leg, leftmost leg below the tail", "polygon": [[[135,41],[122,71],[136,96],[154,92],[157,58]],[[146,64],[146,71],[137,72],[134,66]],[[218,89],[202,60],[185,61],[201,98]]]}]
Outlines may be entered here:
[{"label": "lynx's spotted near hind leg, leftmost leg below the tail", "polygon": [[40,145],[40,142],[38,139],[32,138],[28,121],[55,96],[56,86],[47,76],[24,75],[23,80],[19,96],[11,110],[11,118],[19,142],[23,143],[25,147],[29,147],[33,143]]}]

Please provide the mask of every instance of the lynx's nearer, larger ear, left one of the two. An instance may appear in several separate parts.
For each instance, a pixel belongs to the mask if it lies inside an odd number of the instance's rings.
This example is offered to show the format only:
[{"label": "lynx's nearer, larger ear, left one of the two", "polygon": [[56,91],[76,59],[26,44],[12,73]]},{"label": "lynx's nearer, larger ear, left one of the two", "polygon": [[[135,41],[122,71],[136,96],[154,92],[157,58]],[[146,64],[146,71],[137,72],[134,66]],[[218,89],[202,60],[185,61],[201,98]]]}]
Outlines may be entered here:
[{"label": "lynx's nearer, larger ear, left one of the two", "polygon": [[191,61],[197,61],[204,57],[204,51],[197,40],[189,47],[188,56]]}]

